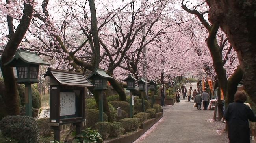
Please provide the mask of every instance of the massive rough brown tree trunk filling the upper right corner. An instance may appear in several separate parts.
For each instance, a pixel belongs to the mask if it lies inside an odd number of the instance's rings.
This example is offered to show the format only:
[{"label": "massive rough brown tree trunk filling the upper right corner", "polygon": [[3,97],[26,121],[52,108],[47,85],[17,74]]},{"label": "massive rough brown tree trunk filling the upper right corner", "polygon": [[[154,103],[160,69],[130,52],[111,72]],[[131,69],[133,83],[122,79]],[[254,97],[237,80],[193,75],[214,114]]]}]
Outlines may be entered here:
[{"label": "massive rough brown tree trunk filling the upper right corner", "polygon": [[209,20],[219,24],[236,50],[243,71],[243,85],[256,103],[256,3],[254,0],[206,0]]}]

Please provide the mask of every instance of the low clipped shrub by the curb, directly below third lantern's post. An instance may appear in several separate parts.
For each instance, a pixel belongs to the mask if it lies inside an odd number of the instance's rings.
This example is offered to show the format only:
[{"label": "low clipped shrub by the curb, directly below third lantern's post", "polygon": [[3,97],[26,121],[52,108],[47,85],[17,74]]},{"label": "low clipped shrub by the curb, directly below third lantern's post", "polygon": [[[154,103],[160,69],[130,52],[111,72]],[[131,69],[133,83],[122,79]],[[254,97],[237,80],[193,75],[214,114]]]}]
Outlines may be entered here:
[{"label": "low clipped shrub by the curb, directly below third lantern's post", "polygon": [[120,122],[122,123],[122,126],[126,132],[139,128],[139,118],[124,118],[121,119]]}]

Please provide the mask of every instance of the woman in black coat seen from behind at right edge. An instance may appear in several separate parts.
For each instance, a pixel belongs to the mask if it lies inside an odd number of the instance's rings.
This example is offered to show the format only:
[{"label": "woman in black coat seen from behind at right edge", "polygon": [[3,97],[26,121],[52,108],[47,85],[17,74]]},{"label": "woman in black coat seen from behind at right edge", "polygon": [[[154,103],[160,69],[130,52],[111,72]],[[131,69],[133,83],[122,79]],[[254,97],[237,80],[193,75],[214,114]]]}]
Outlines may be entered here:
[{"label": "woman in black coat seen from behind at right edge", "polygon": [[234,102],[230,103],[224,113],[223,119],[228,121],[228,139],[230,143],[250,143],[250,129],[248,119],[256,121],[256,116],[246,101],[243,91],[237,91]]}]

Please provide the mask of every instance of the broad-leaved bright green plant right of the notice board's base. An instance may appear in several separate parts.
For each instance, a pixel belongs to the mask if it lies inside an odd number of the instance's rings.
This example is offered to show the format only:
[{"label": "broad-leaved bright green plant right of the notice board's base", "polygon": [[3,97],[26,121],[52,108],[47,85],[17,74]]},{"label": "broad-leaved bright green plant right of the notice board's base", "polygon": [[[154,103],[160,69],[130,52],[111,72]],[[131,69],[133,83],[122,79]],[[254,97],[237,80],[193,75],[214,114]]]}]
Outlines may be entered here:
[{"label": "broad-leaved bright green plant right of the notice board's base", "polygon": [[86,128],[81,131],[81,134],[76,135],[72,143],[102,143],[103,139],[100,133],[91,128]]}]

